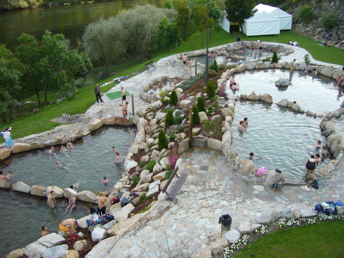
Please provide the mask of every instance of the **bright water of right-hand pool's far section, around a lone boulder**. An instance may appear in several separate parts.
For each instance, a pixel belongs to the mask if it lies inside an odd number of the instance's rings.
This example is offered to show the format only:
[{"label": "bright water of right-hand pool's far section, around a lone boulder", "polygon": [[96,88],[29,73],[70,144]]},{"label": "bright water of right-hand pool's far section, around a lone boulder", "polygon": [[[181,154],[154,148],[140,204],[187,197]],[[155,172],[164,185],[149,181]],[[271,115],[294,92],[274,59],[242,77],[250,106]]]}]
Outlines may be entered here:
[{"label": "bright water of right-hand pool's far section, around a lone boulder", "polygon": [[[291,85],[276,87],[275,81],[282,77],[289,78]],[[235,74],[235,81],[240,84],[240,90],[235,94],[250,94],[252,91],[257,95],[269,93],[275,103],[287,98],[288,101],[296,101],[301,109],[318,115],[338,109],[344,100],[344,87],[337,86],[335,80],[322,75],[314,78],[303,71],[247,70],[246,73]]]}]

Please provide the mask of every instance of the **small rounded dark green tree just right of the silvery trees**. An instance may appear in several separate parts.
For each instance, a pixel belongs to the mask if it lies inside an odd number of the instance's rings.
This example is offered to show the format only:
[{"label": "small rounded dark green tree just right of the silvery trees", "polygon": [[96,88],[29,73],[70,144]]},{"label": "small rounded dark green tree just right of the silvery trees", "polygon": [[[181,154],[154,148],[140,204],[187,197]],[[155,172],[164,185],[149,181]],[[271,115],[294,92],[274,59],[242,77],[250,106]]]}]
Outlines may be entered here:
[{"label": "small rounded dark green tree just right of the silvery trees", "polygon": [[158,25],[159,31],[156,36],[157,45],[161,49],[170,49],[179,43],[178,32],[176,25],[171,23],[166,16],[160,21]]}]

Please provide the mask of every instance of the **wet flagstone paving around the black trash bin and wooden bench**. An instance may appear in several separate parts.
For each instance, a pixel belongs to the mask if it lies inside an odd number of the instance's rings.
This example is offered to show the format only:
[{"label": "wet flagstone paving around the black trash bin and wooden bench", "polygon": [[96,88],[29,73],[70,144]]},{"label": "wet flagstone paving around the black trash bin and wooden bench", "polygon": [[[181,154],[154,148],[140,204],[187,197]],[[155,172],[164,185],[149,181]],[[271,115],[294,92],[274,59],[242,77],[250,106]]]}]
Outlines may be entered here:
[{"label": "wet flagstone paving around the black trash bin and wooden bench", "polygon": [[221,151],[196,147],[181,158],[180,172],[189,175],[177,200],[162,201],[139,228],[119,238],[106,258],[162,257],[162,250],[180,249],[181,241],[191,251],[207,250],[221,236],[218,219],[222,214],[231,215],[232,229],[236,229],[242,222],[255,224],[259,217],[286,207],[310,212],[316,203],[344,198],[340,172],[319,190],[306,192],[304,186],[274,189],[247,182],[228,168]]}]

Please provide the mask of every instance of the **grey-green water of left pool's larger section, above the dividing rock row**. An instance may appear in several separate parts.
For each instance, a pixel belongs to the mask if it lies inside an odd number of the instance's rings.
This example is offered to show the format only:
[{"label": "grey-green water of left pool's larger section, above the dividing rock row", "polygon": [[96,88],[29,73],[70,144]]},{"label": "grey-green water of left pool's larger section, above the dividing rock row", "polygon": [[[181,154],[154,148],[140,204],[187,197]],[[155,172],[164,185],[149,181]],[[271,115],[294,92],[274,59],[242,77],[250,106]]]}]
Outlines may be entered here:
[{"label": "grey-green water of left pool's larger section, above the dividing rock row", "polygon": [[[13,179],[9,182],[23,181],[32,185],[56,185],[69,187],[80,182],[79,190],[97,191],[111,190],[123,173],[123,163],[115,164],[116,151],[123,157],[133,143],[137,129],[134,127],[102,127],[90,135],[74,142],[72,150],[49,154],[47,149],[33,150],[11,155],[0,163],[0,169],[6,174],[12,171]],[[57,169],[59,161],[67,169]],[[101,183],[102,178],[109,179],[109,185]]]}]

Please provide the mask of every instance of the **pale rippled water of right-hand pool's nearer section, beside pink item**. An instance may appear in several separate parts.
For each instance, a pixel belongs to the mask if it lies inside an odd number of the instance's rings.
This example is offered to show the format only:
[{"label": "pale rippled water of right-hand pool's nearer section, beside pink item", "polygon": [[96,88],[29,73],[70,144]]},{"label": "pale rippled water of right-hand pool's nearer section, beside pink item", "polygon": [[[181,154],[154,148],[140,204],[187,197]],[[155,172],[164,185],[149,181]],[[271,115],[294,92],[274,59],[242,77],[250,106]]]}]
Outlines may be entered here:
[{"label": "pale rippled water of right-hand pool's nearer section, beside pink item", "polygon": [[[248,117],[247,132],[236,130],[239,122]],[[321,135],[319,119],[289,111],[287,108],[261,101],[238,101],[232,122],[232,147],[242,158],[254,152],[255,167],[279,169],[288,179],[301,179],[305,162],[310,155],[320,153],[315,143],[326,143]],[[319,165],[325,166],[328,159]]]}]

